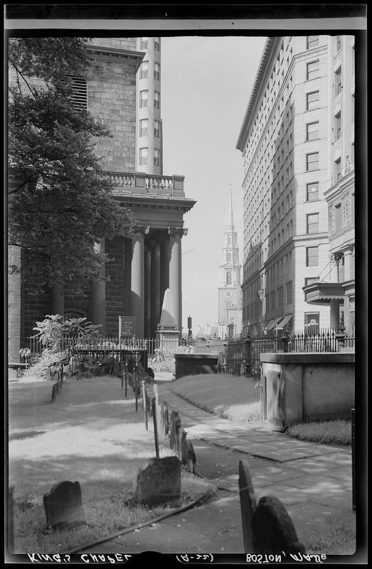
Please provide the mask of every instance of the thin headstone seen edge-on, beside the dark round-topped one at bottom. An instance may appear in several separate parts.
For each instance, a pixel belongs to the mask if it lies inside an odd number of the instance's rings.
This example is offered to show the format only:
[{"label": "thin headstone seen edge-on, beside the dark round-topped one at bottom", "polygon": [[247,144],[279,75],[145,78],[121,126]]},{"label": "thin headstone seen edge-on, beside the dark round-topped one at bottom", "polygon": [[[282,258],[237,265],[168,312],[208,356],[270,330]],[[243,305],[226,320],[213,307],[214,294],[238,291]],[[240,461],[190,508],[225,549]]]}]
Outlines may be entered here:
[{"label": "thin headstone seen edge-on, beside the dark round-topped one at bottom", "polygon": [[256,508],[255,491],[247,462],[239,461],[240,513],[245,553],[253,553],[252,519]]}]

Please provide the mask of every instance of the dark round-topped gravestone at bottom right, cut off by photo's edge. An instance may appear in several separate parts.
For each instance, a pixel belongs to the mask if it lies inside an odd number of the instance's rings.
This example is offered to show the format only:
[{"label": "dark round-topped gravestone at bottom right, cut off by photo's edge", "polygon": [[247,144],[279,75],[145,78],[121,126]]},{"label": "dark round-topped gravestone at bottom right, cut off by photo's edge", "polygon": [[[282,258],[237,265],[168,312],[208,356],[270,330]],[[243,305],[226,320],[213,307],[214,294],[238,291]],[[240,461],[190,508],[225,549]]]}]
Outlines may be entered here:
[{"label": "dark round-topped gravestone at bottom right, cut off by photo's edge", "polygon": [[275,496],[263,496],[252,519],[253,550],[261,555],[306,553],[285,506]]}]

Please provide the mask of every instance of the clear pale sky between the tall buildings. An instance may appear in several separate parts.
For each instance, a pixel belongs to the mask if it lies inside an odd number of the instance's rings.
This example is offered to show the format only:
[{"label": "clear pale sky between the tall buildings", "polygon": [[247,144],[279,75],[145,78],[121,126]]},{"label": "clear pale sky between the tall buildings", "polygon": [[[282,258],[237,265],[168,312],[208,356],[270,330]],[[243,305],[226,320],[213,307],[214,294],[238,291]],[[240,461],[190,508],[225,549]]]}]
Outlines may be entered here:
[{"label": "clear pale sky between the tall buildings", "polygon": [[243,268],[243,160],[235,146],[265,41],[263,36],[161,38],[163,171],[185,176],[186,197],[197,202],[184,216],[184,332],[188,316],[193,333],[218,321],[229,184]]}]

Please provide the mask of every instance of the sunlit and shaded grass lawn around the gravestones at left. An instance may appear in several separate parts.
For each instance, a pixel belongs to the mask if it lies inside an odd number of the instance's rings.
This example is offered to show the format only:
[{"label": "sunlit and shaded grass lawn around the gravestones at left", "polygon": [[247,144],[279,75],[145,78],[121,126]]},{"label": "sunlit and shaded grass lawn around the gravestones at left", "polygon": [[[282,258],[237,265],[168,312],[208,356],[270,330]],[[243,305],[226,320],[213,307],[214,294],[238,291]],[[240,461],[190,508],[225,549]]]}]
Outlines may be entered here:
[{"label": "sunlit and shaded grass lawn around the gravestones at left", "polygon": [[[23,378],[9,384],[9,487],[14,488],[14,553],[70,551],[122,528],[171,511],[135,500],[139,469],[155,457],[154,430],[144,426],[115,376],[71,379],[51,403],[51,382]],[[164,442],[160,457],[174,452]],[[86,526],[51,533],[43,494],[54,484],[80,482]],[[181,476],[184,505],[214,486],[187,472]]]}]

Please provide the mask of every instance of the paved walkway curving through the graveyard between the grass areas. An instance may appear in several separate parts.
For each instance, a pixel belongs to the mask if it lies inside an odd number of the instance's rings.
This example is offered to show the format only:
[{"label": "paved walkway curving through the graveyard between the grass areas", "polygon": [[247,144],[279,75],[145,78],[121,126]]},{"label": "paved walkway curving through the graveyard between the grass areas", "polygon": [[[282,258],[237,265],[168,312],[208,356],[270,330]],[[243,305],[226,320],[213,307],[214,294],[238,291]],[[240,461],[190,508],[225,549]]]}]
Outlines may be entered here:
[{"label": "paved walkway curving through the graveyard between the grass areas", "polygon": [[[261,422],[231,422],[196,408],[171,393],[169,377],[156,376],[159,399],[178,410],[193,441],[198,473],[218,486],[208,504],[183,511],[140,530],[97,544],[84,553],[244,553],[238,463],[250,468],[256,499],[273,495],[285,504],[299,539],[319,543],[319,523],[352,509],[351,448],[302,442],[272,432]],[[336,518],[335,518],[336,516]],[[353,522],[354,523],[354,522]],[[351,555],[339,544],[333,555]]]}]

